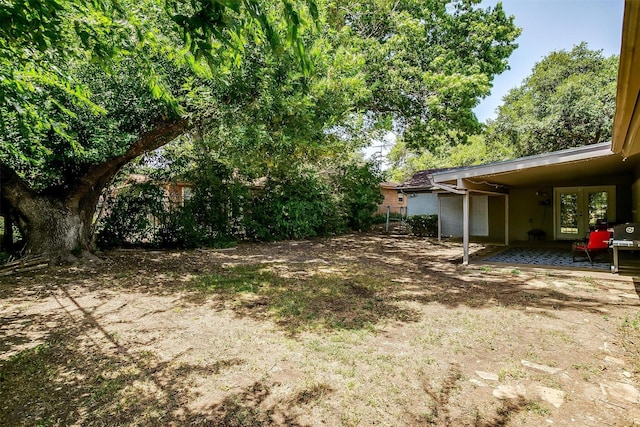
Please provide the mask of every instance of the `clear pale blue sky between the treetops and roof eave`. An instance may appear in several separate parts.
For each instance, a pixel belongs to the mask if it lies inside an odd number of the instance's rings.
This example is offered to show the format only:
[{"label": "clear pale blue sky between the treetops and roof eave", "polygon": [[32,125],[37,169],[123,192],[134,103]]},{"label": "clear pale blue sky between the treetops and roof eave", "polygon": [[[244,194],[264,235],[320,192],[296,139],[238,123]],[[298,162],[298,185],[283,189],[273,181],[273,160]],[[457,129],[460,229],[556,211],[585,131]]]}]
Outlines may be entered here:
[{"label": "clear pale blue sky between the treetops and roof eave", "polygon": [[[480,7],[497,3],[484,0]],[[495,77],[491,95],[474,110],[480,122],[495,118],[502,97],[552,51],[571,50],[586,41],[589,49],[605,56],[620,54],[624,0],[503,0],[502,7],[515,17],[522,34],[509,57],[511,69]]]}]

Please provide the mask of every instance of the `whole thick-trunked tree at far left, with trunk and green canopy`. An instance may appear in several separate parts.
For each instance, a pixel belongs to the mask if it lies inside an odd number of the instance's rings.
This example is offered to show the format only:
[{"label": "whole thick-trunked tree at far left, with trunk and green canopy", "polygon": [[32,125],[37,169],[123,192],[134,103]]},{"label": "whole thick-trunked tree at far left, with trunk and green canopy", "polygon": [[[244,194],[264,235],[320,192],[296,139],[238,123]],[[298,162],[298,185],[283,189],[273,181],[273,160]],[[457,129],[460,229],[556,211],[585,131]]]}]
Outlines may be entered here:
[{"label": "whole thick-trunked tree at far left, with trunk and green canopy", "polygon": [[15,1],[0,16],[1,210],[54,258],[90,249],[105,185],[206,115],[247,38],[288,37],[304,58],[291,2]]}]

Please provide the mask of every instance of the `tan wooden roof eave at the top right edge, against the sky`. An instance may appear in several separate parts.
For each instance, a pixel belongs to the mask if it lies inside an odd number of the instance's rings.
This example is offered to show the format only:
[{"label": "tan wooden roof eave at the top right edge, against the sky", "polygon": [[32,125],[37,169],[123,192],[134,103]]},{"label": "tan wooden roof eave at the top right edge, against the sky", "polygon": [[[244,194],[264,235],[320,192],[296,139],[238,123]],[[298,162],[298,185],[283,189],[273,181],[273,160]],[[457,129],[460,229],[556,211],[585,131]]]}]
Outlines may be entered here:
[{"label": "tan wooden roof eave at the top right edge, against the sky", "polygon": [[640,1],[626,0],[618,69],[612,150],[625,158],[640,153]]}]

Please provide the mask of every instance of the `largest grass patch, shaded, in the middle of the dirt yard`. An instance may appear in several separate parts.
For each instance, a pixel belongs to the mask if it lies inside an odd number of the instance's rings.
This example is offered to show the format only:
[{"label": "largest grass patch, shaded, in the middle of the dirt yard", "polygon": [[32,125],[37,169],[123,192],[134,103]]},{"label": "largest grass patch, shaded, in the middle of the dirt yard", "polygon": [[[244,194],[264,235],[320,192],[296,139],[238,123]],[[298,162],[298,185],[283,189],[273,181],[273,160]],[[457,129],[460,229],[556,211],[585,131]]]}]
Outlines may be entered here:
[{"label": "largest grass patch, shaded, in the middle of the dirt yard", "polygon": [[[373,331],[383,319],[410,320],[408,309],[385,298],[390,280],[371,272],[310,272],[308,266],[242,265],[194,279],[244,314],[270,316],[290,332],[308,328]],[[251,295],[251,298],[243,297]]]}]

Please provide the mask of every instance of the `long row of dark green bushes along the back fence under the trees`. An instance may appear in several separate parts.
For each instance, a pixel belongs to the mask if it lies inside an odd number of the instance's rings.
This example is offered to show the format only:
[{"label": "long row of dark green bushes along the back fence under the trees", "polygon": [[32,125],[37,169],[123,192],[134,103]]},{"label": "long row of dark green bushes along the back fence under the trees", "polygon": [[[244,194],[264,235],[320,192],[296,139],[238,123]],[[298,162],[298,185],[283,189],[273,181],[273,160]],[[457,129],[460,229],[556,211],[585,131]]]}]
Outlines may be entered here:
[{"label": "long row of dark green bushes along the back fence under the trees", "polygon": [[369,166],[326,177],[271,176],[260,187],[232,179],[196,181],[169,200],[162,185],[134,184],[111,197],[97,226],[101,248],[225,247],[238,240],[305,239],[368,230],[382,200]]}]

